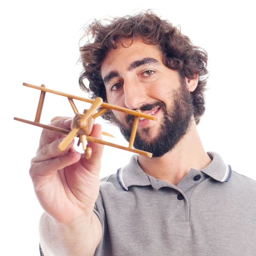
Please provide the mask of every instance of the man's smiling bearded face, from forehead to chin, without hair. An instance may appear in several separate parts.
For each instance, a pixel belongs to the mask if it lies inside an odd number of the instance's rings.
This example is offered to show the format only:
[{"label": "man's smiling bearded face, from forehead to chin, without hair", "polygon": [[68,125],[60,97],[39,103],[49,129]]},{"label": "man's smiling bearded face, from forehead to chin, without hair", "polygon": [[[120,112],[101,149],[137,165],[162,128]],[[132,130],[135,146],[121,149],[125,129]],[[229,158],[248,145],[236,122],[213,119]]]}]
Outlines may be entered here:
[{"label": "man's smiling bearded face, from forehead to chin, without hair", "polygon": [[[119,44],[111,50],[101,67],[107,101],[157,116],[157,121],[139,120],[134,148],[161,157],[175,147],[191,124],[193,106],[187,82],[163,64],[157,46],[139,40],[131,44],[128,39],[122,43],[125,47]],[[134,116],[113,113],[113,123],[129,141]]]}]

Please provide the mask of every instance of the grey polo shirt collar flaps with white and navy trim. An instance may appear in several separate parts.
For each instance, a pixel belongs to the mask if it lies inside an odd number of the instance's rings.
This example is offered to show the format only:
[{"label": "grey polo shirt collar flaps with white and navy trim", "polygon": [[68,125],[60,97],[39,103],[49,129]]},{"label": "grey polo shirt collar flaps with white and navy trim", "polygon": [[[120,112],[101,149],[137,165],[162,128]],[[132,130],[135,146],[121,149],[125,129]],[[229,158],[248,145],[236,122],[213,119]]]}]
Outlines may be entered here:
[{"label": "grey polo shirt collar flaps with white and navy trim", "polygon": [[[231,177],[231,167],[224,163],[221,156],[215,152],[207,152],[212,162],[204,169],[200,170],[213,179],[224,182],[229,181]],[[130,162],[117,170],[116,178],[122,189],[128,191],[129,186],[149,186],[151,185],[151,176],[147,175],[138,164],[138,155],[134,154]],[[152,177],[153,178],[153,177]]]}]

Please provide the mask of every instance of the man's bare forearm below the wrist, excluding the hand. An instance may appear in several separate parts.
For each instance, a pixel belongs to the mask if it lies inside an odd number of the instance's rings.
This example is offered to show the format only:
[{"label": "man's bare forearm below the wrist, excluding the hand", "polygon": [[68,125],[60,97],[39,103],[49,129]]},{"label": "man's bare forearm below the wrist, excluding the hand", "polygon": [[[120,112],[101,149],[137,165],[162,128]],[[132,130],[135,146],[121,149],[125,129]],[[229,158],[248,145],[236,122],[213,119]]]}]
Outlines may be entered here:
[{"label": "man's bare forearm below the wrist, excluding the hand", "polygon": [[102,239],[102,226],[93,212],[91,219],[60,225],[43,213],[39,226],[44,256],[93,256]]}]

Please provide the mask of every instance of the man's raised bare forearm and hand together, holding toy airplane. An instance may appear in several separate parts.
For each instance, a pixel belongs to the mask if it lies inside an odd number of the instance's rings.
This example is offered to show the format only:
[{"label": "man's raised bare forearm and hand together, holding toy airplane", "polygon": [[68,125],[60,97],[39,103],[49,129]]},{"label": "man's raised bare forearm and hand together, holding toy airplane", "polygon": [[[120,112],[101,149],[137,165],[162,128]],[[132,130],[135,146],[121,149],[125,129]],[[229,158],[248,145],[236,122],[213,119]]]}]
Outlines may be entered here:
[{"label": "man's raised bare forearm and hand together, holding toy airplane", "polygon": [[[71,119],[55,117],[51,125],[70,128]],[[91,136],[101,138],[99,124]],[[93,255],[102,237],[102,227],[93,212],[99,196],[101,157],[104,145],[88,142],[93,154],[87,159],[76,152],[74,140],[64,151],[64,137],[43,129],[29,175],[44,214],[40,221],[40,244],[44,256]]]}]

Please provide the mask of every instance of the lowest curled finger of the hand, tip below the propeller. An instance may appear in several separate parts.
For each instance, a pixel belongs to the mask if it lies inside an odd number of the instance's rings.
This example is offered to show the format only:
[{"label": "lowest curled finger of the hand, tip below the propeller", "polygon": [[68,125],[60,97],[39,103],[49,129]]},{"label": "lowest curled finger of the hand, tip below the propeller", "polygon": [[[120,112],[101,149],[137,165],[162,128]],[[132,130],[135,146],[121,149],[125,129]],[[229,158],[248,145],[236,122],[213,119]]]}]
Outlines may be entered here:
[{"label": "lowest curled finger of the hand, tip below the propeller", "polygon": [[33,162],[29,169],[29,175],[33,181],[39,181],[41,177],[53,175],[58,170],[78,162],[80,158],[81,154],[79,152],[69,152],[63,156],[51,158],[39,163]]}]

